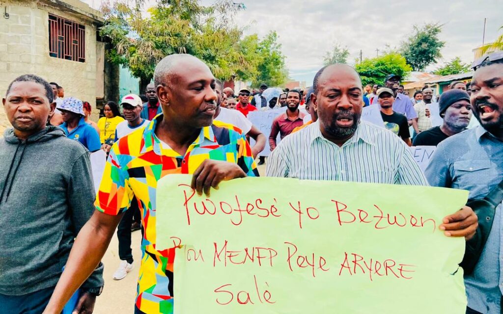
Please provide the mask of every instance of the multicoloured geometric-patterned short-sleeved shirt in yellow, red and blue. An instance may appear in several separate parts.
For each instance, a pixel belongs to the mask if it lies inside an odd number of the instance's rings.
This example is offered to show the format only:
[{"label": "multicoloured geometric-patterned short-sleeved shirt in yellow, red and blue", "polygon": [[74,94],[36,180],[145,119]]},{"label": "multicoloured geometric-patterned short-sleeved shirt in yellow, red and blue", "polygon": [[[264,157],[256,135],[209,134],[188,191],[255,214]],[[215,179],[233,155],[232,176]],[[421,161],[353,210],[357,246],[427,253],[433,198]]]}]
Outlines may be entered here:
[{"label": "multicoloured geometric-patterned short-sleeved shirt in yellow, red and blue", "polygon": [[[173,313],[175,249],[155,249],[155,191],[157,181],[169,174],[193,173],[205,159],[238,164],[248,176],[258,176],[244,135],[217,121],[201,129],[185,156],[164,147],[154,130],[162,114],[143,129],[114,143],[96,197],[98,211],[118,215],[138,200],[144,235],[136,307],[148,314]],[[187,291],[190,293],[190,291]]]}]

